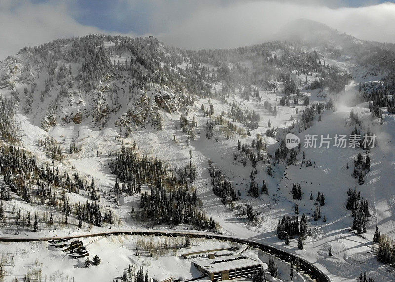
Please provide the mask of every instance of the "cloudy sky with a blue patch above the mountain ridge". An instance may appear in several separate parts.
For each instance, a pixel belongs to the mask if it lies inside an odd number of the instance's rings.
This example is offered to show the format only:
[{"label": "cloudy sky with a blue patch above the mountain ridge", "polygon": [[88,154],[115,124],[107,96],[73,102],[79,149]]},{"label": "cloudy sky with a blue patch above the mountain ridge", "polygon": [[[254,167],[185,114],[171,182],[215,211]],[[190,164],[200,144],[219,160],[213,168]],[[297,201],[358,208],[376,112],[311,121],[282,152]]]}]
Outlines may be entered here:
[{"label": "cloudy sky with a blue patch above the mountain ridge", "polygon": [[90,33],[154,35],[191,49],[231,48],[272,40],[299,18],[364,40],[395,42],[394,1],[2,0],[0,60],[24,46]]}]

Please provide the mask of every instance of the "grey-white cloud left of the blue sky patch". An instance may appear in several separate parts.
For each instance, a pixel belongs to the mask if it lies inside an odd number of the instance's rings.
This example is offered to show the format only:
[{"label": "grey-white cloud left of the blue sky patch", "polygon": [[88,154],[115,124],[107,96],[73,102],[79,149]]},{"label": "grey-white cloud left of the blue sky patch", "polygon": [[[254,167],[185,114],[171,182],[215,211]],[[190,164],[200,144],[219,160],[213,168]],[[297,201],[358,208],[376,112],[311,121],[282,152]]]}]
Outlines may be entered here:
[{"label": "grey-white cloud left of the blue sky patch", "polygon": [[101,33],[79,24],[65,5],[5,1],[0,4],[0,60],[24,46],[36,46],[72,36]]}]

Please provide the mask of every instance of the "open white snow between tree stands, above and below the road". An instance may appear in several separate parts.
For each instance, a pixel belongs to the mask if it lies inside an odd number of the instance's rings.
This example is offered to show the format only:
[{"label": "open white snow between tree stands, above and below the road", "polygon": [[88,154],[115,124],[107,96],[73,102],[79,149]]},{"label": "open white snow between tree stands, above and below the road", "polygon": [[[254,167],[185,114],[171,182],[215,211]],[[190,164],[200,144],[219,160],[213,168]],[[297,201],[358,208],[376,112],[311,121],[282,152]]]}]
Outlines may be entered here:
[{"label": "open white snow between tree stands, above and below the road", "polygon": [[[278,52],[281,55],[281,52]],[[351,126],[345,126],[345,119],[349,118],[350,111],[358,113],[359,118],[363,120],[362,126],[370,127],[370,131],[375,133],[378,138],[378,144],[370,152],[372,167],[366,175],[365,184],[358,185],[356,179],[351,177],[353,169],[353,158],[357,154],[356,149],[351,148],[302,148],[298,155],[298,163],[286,167],[284,164],[275,165],[274,176],[269,177],[266,174],[266,165],[257,165],[256,182],[260,185],[265,179],[268,185],[269,196],[260,195],[258,198],[252,198],[248,195],[249,174],[252,170],[251,163],[248,161],[246,167],[233,160],[233,153],[237,151],[237,140],[251,144],[253,138],[257,134],[265,136],[268,142],[268,152],[274,155],[274,150],[278,146],[278,140],[266,137],[266,129],[268,120],[272,122],[272,126],[280,131],[288,128],[292,121],[289,121],[292,115],[295,123],[300,120],[301,112],[305,106],[297,105],[299,113],[296,114],[295,109],[291,106],[280,106],[279,99],[283,96],[282,88],[273,93],[259,89],[262,95],[262,101],[258,102],[251,99],[243,100],[239,93],[235,98],[228,102],[235,102],[241,107],[248,107],[259,112],[261,121],[260,127],[251,131],[251,136],[231,135],[229,139],[225,138],[221,132],[218,135],[219,142],[214,142],[214,138],[205,138],[204,126],[209,120],[200,110],[201,104],[205,107],[212,102],[215,113],[220,114],[222,111],[228,111],[228,105],[211,99],[201,98],[196,101],[196,108],[187,109],[187,117],[195,116],[197,121],[197,129],[195,130],[196,140],[190,141],[189,146],[186,144],[187,135],[181,133],[179,126],[181,111],[165,113],[163,116],[163,129],[158,130],[146,124],[131,132],[128,138],[120,133],[114,125],[116,118],[112,118],[103,128],[94,126],[90,121],[84,121],[81,124],[57,124],[48,132],[40,127],[42,114],[24,115],[22,106],[18,109],[15,116],[16,125],[22,136],[23,146],[38,156],[40,162],[50,162],[51,160],[45,156],[45,153],[38,146],[38,140],[46,136],[54,137],[67,151],[71,141],[78,142],[82,151],[78,154],[68,156],[62,163],[56,162],[55,165],[61,172],[78,171],[86,179],[94,178],[95,184],[101,189],[101,193],[107,192],[107,197],[103,197],[100,202],[102,207],[112,207],[115,211],[118,221],[111,230],[133,230],[145,228],[135,223],[130,218],[131,208],[139,207],[140,195],[121,196],[118,199],[111,197],[110,189],[114,186],[115,176],[110,174],[108,169],[107,152],[115,152],[119,150],[120,142],[123,141],[125,146],[136,142],[139,152],[158,158],[168,162],[172,167],[185,167],[190,161],[197,166],[197,179],[192,183],[192,187],[197,190],[198,197],[203,201],[203,209],[208,216],[212,216],[220,226],[221,231],[227,235],[233,235],[239,238],[246,238],[256,242],[263,242],[273,245],[276,248],[286,250],[289,253],[300,255],[306,260],[313,263],[324,273],[329,275],[333,281],[355,281],[360,271],[366,271],[368,275],[375,277],[376,281],[394,281],[395,272],[393,269],[388,270],[386,266],[375,260],[375,254],[372,251],[372,237],[375,226],[378,225],[381,234],[388,234],[395,237],[395,118],[394,115],[387,115],[386,109],[383,108],[383,124],[378,119],[371,120],[371,115],[367,103],[350,105],[350,97],[354,97],[357,92],[359,82],[377,81],[377,76],[369,75],[367,70],[356,64],[352,57],[343,57],[339,61],[326,60],[330,64],[336,64],[339,67],[351,73],[354,80],[347,86],[344,93],[339,95],[327,94],[325,98],[322,93],[316,90],[303,90],[304,94],[310,97],[310,102],[323,102],[332,97],[337,105],[335,112],[325,111],[322,114],[322,121],[318,122],[316,117],[312,127],[302,131],[299,135],[301,140],[306,134],[347,134],[349,135],[353,129]],[[295,82],[304,82],[305,76],[298,76],[296,72],[292,73]],[[315,76],[308,77],[314,80]],[[281,83],[280,83],[281,84]],[[15,82],[19,92],[23,92],[24,85]],[[222,85],[215,85],[217,89],[221,89]],[[3,96],[9,96],[10,91],[7,89],[0,90]],[[319,95],[318,95],[319,94]],[[277,107],[278,115],[273,116],[268,113],[263,106],[263,101],[267,99]],[[126,108],[120,101],[121,110],[125,112]],[[39,107],[39,106],[38,106]],[[184,112],[185,113],[185,112]],[[237,124],[237,122],[235,122]],[[237,124],[241,126],[242,124]],[[297,125],[296,127],[297,128]],[[78,137],[79,134],[79,137]],[[173,138],[176,138],[174,142]],[[193,155],[190,159],[189,150]],[[103,156],[96,157],[96,152],[102,152]],[[302,159],[302,151],[305,152],[306,158],[316,162],[315,168],[300,166]],[[212,193],[211,178],[208,173],[207,161],[212,160],[218,165],[228,180],[234,182],[236,190],[241,193],[241,200],[235,203],[234,211],[229,206],[223,205],[221,199]],[[350,168],[346,169],[349,163]],[[1,178],[2,181],[2,178]],[[293,200],[290,189],[293,183],[302,186],[304,193],[302,200]],[[352,224],[351,212],[346,210],[345,203],[347,199],[347,190],[354,187],[361,191],[364,199],[369,201],[369,208],[372,217],[368,222],[368,232],[363,237],[350,233],[348,228]],[[149,189],[143,187],[143,191]],[[322,218],[325,215],[326,222],[321,220],[313,221],[311,219],[314,212],[314,200],[310,201],[310,193],[316,199],[318,192],[324,193],[326,204],[321,208]],[[276,195],[274,195],[276,193]],[[10,210],[15,203],[22,210],[31,210],[39,212],[38,206],[30,206],[19,199],[16,195],[12,195],[13,200],[6,202],[6,210]],[[86,201],[88,195],[69,194],[72,202]],[[91,201],[89,199],[89,201]],[[303,250],[297,248],[297,239],[293,239],[290,245],[284,245],[276,237],[276,226],[279,219],[285,215],[294,214],[294,203],[299,205],[300,215],[305,213],[309,219],[309,227],[312,227],[313,236],[305,241]],[[240,216],[240,211],[249,203],[253,206],[254,212],[257,213],[256,220],[252,223],[248,222],[245,217]],[[119,205],[119,206],[118,206]],[[118,206],[119,208],[116,208]],[[61,217],[61,215],[58,215]],[[59,219],[59,221],[61,221]],[[75,224],[77,225],[77,224]],[[156,229],[189,230],[190,226],[149,226]],[[87,234],[92,232],[100,232],[110,230],[110,226],[98,228],[94,226],[84,226],[82,230],[78,230],[77,226],[64,228],[56,226],[54,228],[43,228],[40,232],[32,234],[28,230],[22,230],[20,235],[11,234],[1,230],[1,236],[29,237],[29,236],[62,236],[72,234]],[[8,233],[5,235],[5,233]],[[85,269],[83,267],[84,259],[73,260],[68,258],[59,250],[48,249],[46,242],[3,242],[0,244],[1,253],[12,252],[14,255],[14,265],[8,265],[7,270],[10,271],[9,277],[22,278],[27,269],[42,268],[43,275],[47,275],[50,281],[111,281],[117,276],[121,276],[123,270],[128,264],[136,266],[142,265],[144,269],[148,268],[150,275],[166,272],[173,278],[189,279],[199,274],[197,270],[190,266],[190,263],[184,261],[179,256],[159,256],[155,259],[149,257],[137,257],[135,255],[135,247],[133,242],[135,238],[132,236],[114,236],[114,237],[98,237],[86,238],[84,243],[89,244],[88,250],[91,254],[98,254],[102,263],[97,267],[97,271]],[[90,243],[91,242],[91,243]],[[210,248],[214,245],[226,244],[225,242],[202,242],[199,247]],[[333,257],[327,255],[329,248],[332,247]],[[179,255],[179,254],[178,254]],[[253,255],[253,254],[251,254]],[[255,254],[257,257],[263,254]],[[92,257],[92,255],[90,255]],[[37,261],[35,261],[37,259]],[[266,260],[262,260],[266,262]],[[29,267],[31,266],[31,267]],[[280,271],[283,274],[282,279],[287,278],[289,272],[286,266]],[[99,280],[92,280],[94,277]],[[288,275],[289,276],[289,275]],[[50,278],[50,277],[53,277]],[[302,278],[300,278],[302,279]],[[303,278],[304,279],[304,278]],[[302,280],[300,280],[302,281]]]}]

